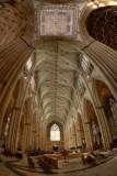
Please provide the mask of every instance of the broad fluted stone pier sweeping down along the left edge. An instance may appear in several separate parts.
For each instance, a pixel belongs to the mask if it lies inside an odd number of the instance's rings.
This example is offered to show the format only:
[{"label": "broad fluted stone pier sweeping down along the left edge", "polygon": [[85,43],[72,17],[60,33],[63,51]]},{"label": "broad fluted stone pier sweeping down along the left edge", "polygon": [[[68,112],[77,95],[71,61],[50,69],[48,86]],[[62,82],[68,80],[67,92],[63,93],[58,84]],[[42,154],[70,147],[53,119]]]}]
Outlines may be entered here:
[{"label": "broad fluted stone pier sweeping down along the left edge", "polygon": [[32,52],[22,40],[0,48],[0,133],[11,95]]}]

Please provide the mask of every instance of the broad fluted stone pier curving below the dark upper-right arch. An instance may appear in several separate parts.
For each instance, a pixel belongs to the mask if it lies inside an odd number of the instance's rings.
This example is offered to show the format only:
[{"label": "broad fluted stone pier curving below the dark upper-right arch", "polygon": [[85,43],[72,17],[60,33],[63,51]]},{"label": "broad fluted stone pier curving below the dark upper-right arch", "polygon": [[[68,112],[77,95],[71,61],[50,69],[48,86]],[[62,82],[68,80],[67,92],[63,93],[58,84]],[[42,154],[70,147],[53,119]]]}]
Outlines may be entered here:
[{"label": "broad fluted stone pier curving below the dark upper-right arch", "polygon": [[95,41],[84,48],[84,54],[102,73],[105,82],[117,100],[117,52],[108,46]]}]

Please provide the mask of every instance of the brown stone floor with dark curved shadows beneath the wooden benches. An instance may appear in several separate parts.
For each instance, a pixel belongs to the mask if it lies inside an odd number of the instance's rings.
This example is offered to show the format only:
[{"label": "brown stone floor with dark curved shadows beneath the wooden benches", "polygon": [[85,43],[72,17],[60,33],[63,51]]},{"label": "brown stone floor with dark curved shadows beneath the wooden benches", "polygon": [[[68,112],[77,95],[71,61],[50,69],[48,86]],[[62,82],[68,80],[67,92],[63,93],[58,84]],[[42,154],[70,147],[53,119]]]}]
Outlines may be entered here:
[{"label": "brown stone floor with dark curved shadows beneath the wooden benches", "polygon": [[[27,157],[16,160],[15,157],[2,156],[0,163],[0,176],[45,176],[43,168],[37,164],[37,158],[33,157],[35,169],[28,169]],[[92,167],[90,164],[82,165],[81,158],[59,161],[59,169],[52,169],[54,176],[117,176],[117,152],[110,152],[108,157],[98,161],[98,165]]]}]

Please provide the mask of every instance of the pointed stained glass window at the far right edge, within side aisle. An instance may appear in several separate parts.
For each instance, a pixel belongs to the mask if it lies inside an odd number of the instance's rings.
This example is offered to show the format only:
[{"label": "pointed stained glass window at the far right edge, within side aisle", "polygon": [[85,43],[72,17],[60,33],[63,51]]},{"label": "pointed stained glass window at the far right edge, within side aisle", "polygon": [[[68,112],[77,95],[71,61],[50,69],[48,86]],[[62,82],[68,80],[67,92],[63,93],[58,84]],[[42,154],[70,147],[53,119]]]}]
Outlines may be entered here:
[{"label": "pointed stained glass window at the far right edge, within side aisle", "polygon": [[110,111],[113,113],[113,117],[117,125],[117,102],[114,99],[109,98],[109,106],[110,106]]}]

